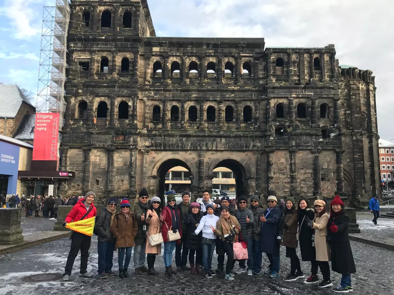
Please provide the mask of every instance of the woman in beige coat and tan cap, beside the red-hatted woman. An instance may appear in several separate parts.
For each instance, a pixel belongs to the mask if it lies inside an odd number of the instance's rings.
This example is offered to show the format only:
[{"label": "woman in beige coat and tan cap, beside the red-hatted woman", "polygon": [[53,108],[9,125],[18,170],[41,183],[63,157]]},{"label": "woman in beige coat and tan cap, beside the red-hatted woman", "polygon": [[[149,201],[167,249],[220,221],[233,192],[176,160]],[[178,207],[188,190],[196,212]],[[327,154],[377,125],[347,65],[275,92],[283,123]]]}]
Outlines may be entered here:
[{"label": "woman in beige coat and tan cap, beside the red-hatted woman", "polygon": [[[330,278],[330,265],[328,264],[331,253],[326,240],[328,214],[323,200],[316,200],[314,206],[316,214],[313,221],[308,217],[305,217],[305,221],[307,221],[307,224],[314,229],[314,234],[312,235],[312,241],[314,242],[312,242],[312,245],[316,248],[316,262],[323,275],[323,281],[318,284],[318,287],[327,288],[333,286]],[[312,273],[318,273],[317,269],[313,270]],[[314,281],[318,282],[317,275],[316,280]]]}]

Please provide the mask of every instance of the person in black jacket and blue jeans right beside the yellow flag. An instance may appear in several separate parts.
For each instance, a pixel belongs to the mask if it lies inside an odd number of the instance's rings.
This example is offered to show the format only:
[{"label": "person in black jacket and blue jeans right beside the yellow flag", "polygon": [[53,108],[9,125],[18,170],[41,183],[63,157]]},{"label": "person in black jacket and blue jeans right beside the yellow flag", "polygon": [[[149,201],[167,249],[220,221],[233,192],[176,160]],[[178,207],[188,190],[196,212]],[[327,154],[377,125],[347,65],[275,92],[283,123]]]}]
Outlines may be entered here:
[{"label": "person in black jacket and blue jeans right beside the yellow flag", "polygon": [[115,238],[110,230],[112,216],[116,214],[116,198],[110,198],[107,207],[103,208],[97,216],[95,232],[97,234],[97,252],[99,253],[99,277],[104,279],[107,276],[114,276],[112,271],[113,249],[115,248]]}]

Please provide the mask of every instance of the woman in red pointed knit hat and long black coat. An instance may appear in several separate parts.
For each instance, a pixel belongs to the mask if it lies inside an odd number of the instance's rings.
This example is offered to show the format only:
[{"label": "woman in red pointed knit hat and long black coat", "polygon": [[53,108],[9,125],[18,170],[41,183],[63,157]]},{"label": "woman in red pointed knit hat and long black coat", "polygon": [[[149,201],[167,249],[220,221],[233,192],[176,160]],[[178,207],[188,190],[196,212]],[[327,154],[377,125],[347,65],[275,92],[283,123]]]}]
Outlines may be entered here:
[{"label": "woman in red pointed knit hat and long black coat", "polygon": [[342,274],[340,285],[332,289],[337,293],[353,291],[350,275],[356,272],[356,266],[350,247],[348,224],[349,217],[344,212],[344,203],[339,195],[336,195],[331,201],[327,234],[331,246],[331,268]]}]

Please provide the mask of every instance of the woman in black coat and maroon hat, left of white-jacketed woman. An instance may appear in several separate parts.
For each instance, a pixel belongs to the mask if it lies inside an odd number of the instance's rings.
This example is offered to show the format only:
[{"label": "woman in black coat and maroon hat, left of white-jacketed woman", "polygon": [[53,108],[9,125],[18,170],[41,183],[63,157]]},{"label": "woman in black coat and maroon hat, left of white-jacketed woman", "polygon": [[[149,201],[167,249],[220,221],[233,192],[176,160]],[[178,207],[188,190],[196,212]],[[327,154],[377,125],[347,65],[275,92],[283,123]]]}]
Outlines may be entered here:
[{"label": "woman in black coat and maroon hat, left of white-jacketed woman", "polygon": [[[208,204],[207,204],[208,205]],[[210,204],[212,205],[212,204]],[[189,214],[186,215],[186,231],[182,229],[183,236],[186,236],[185,246],[189,251],[189,264],[190,273],[192,275],[197,275],[200,273],[199,266],[203,264],[203,254],[201,250],[201,234],[195,234],[201,218],[203,218],[203,213],[200,211],[200,204],[195,202],[191,203]],[[194,253],[196,254],[195,264],[194,264]]]}]

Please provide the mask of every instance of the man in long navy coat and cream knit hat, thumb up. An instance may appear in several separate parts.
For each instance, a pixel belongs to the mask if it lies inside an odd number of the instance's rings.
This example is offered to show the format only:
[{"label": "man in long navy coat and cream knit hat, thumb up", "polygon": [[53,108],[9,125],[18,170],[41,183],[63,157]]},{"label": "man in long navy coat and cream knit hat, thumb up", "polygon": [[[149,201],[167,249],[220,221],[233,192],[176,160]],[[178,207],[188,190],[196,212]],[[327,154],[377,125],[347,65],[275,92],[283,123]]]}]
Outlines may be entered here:
[{"label": "man in long navy coat and cream knit hat, thumb up", "polygon": [[264,216],[260,217],[260,221],[262,221],[260,251],[266,253],[269,260],[269,266],[264,271],[264,274],[270,274],[270,278],[279,278],[279,245],[281,240],[277,237],[282,210],[277,207],[278,200],[274,195],[270,195],[267,202],[268,208],[264,211]]}]

